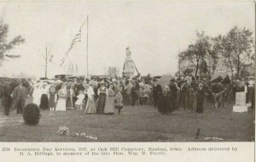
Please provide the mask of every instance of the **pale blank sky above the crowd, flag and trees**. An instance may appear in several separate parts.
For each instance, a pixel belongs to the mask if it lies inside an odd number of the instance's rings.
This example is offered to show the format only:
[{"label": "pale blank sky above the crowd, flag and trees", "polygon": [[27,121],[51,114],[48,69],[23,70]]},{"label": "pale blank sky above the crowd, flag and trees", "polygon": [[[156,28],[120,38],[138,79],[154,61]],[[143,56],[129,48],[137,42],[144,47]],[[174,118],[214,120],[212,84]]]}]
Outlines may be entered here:
[{"label": "pale blank sky above the crowd, flag and trees", "polygon": [[[89,74],[104,75],[108,66],[123,69],[125,48],[142,75],[173,75],[177,53],[195,41],[195,31],[209,36],[226,34],[232,27],[254,32],[252,2],[0,2],[0,20],[9,25],[9,39],[21,35],[26,43],[9,54],[20,59],[3,62],[0,75],[24,73],[44,76],[45,47],[51,47],[55,64],[49,63],[48,77],[65,73],[61,59],[79,27],[89,15]],[[86,72],[86,31],[75,44],[68,60]]]}]

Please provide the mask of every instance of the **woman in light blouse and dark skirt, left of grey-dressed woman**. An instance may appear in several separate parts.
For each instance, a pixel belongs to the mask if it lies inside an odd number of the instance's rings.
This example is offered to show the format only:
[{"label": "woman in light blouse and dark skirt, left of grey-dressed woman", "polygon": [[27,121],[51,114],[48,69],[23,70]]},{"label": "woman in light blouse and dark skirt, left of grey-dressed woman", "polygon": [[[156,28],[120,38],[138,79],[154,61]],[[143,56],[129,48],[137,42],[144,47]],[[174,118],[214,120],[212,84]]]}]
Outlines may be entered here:
[{"label": "woman in light blouse and dark skirt, left of grey-dressed woman", "polygon": [[108,89],[107,87],[105,87],[105,82],[101,81],[101,87],[98,88],[98,92],[97,92],[99,96],[97,100],[97,106],[96,106],[97,114],[103,114],[103,110],[106,104],[107,92],[108,92]]}]

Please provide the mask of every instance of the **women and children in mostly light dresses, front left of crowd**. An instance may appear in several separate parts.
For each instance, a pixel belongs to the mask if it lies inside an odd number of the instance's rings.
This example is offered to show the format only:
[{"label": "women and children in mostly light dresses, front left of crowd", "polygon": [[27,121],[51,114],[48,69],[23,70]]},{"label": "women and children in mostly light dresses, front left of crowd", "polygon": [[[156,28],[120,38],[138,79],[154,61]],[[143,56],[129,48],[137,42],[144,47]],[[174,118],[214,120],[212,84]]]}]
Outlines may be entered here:
[{"label": "women and children in mostly light dresses, front left of crowd", "polygon": [[43,87],[36,84],[32,92],[33,103],[40,109],[50,111],[66,111],[68,109],[83,110],[86,114],[113,115],[115,108],[120,110],[123,105],[122,89],[119,81],[55,81]]}]

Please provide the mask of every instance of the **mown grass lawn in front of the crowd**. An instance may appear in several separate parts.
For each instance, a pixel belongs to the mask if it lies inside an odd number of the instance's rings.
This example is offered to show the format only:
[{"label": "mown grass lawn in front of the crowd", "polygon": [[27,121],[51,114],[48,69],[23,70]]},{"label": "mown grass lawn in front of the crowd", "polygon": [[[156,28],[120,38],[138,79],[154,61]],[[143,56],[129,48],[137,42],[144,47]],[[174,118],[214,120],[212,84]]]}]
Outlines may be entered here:
[{"label": "mown grass lawn in front of the crowd", "polygon": [[[205,137],[221,137],[224,141],[246,142],[254,136],[254,110],[233,113],[232,106],[213,109],[206,105],[203,114],[177,110],[160,115],[152,106],[126,106],[121,115],[85,115],[78,110],[41,111],[38,126],[26,126],[22,116],[12,112],[0,115],[1,142],[94,142],[84,137],[57,134],[59,126],[73,132],[97,137],[97,142],[195,142]],[[200,129],[199,139],[195,139]]]}]

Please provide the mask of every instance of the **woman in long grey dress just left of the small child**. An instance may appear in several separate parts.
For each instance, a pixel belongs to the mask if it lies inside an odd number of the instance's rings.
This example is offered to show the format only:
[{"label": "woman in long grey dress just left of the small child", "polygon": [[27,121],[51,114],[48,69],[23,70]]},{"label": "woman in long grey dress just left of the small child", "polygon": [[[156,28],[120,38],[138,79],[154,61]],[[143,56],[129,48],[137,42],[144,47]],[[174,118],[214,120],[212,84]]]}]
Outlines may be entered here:
[{"label": "woman in long grey dress just left of the small child", "polygon": [[104,114],[113,115],[114,113],[114,92],[113,92],[113,83],[109,83],[109,88],[107,92],[107,100],[104,108]]}]

